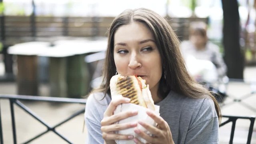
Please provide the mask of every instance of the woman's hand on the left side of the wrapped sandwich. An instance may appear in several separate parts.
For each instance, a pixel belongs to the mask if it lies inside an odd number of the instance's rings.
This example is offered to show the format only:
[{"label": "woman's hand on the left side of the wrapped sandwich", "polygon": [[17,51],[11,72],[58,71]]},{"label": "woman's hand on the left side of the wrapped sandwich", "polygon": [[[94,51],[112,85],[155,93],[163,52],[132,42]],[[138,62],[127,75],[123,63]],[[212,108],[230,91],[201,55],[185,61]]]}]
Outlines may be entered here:
[{"label": "woman's hand on the left side of the wrapped sandwich", "polygon": [[125,124],[115,124],[119,120],[128,118],[130,116],[135,116],[138,114],[137,111],[128,111],[128,112],[120,112],[119,114],[114,115],[114,110],[119,104],[129,103],[129,98],[118,98],[116,100],[111,100],[108,108],[104,112],[104,117],[101,121],[101,131],[102,137],[105,140],[106,144],[115,144],[114,140],[131,140],[134,137],[132,135],[121,135],[114,134],[114,131],[124,130],[127,128],[134,128],[137,126],[137,123],[125,123]]}]

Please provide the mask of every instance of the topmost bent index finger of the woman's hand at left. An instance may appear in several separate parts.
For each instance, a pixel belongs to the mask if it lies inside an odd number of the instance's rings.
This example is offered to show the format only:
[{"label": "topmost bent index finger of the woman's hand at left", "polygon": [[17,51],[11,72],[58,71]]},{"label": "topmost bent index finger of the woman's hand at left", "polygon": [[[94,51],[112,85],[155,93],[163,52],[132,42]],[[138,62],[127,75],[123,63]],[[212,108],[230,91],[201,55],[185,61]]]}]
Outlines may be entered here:
[{"label": "topmost bent index finger of the woman's hand at left", "polygon": [[104,117],[112,116],[114,110],[116,109],[116,106],[118,106],[119,104],[129,103],[129,102],[130,102],[130,98],[124,98],[124,97],[117,98],[116,100],[111,100],[110,104],[108,105],[108,108],[104,112]]}]

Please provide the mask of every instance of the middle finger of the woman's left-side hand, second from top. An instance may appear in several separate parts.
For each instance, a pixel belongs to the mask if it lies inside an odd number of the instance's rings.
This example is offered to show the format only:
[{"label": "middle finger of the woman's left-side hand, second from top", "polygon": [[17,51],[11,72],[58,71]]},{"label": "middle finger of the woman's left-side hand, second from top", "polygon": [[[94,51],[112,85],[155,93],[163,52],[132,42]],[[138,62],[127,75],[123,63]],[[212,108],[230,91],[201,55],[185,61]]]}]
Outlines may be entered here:
[{"label": "middle finger of the woman's left-side hand, second from top", "polygon": [[127,111],[127,112],[120,112],[119,114],[115,114],[106,118],[103,118],[101,121],[102,126],[110,125],[115,122],[118,122],[119,120],[123,120],[125,118],[135,116],[138,114],[137,110]]}]

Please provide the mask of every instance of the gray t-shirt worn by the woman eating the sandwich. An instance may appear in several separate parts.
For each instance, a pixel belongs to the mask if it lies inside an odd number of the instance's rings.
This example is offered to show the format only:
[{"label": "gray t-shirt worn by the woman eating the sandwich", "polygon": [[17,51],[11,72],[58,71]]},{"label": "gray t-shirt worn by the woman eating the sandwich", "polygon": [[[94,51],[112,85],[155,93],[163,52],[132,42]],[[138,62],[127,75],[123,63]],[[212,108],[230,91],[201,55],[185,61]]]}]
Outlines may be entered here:
[{"label": "gray t-shirt worn by the woman eating the sandwich", "polygon": [[[100,121],[111,99],[103,96],[103,93],[91,94],[86,102],[88,144],[104,143]],[[170,126],[175,144],[218,144],[218,116],[211,99],[192,99],[171,91],[156,105]]]}]

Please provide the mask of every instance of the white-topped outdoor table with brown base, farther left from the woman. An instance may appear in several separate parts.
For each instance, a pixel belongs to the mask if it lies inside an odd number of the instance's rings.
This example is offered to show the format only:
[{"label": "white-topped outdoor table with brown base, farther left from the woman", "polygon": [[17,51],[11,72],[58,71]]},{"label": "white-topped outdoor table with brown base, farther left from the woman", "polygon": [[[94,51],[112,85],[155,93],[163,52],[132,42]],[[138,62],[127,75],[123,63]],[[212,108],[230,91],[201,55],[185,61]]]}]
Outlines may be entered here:
[{"label": "white-topped outdoor table with brown base, farther left from the woman", "polygon": [[38,96],[37,55],[50,46],[49,42],[26,42],[8,48],[17,55],[17,86],[19,95]]}]

